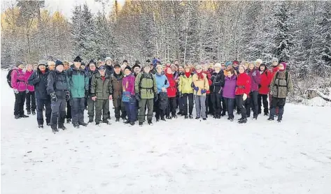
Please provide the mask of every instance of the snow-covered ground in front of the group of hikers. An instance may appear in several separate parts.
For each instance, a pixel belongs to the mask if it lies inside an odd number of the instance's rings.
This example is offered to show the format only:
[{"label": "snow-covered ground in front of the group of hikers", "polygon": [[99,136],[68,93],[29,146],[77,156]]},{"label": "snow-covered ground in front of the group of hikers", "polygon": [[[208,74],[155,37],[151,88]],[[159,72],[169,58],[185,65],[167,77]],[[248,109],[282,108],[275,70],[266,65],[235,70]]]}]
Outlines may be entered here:
[{"label": "snow-covered ground in front of the group of hikers", "polygon": [[3,71],[3,194],[331,193],[331,107],[287,104],[281,124],[267,117],[246,125],[226,117],[143,127],[113,120],[66,124],[54,135],[37,128],[36,116],[15,120],[13,105]]}]

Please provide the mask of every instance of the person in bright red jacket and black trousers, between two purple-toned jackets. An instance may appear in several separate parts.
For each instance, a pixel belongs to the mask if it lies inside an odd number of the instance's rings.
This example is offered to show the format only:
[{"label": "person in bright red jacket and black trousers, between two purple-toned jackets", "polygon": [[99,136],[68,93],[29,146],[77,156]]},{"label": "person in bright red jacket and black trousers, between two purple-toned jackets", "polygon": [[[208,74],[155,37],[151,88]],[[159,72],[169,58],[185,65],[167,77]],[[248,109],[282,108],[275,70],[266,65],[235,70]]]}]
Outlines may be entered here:
[{"label": "person in bright red jacket and black trousers, between two purple-toned jackets", "polygon": [[236,103],[241,112],[241,118],[239,119],[239,124],[245,124],[247,122],[247,113],[245,108],[245,103],[249,93],[251,92],[251,77],[245,73],[245,67],[243,65],[239,66],[239,75],[237,77],[236,86]]}]

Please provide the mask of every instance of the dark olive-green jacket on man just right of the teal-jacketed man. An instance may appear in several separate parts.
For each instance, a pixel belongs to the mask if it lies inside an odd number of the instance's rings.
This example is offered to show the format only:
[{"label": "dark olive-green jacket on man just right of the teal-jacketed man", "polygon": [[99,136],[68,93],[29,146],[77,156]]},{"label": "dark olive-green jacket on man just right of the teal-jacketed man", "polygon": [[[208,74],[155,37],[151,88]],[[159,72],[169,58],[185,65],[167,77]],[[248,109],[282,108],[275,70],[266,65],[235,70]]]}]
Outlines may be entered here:
[{"label": "dark olive-green jacket on man just right of the teal-jacketed man", "polygon": [[111,95],[113,89],[111,87],[111,77],[105,74],[104,80],[102,80],[99,73],[93,75],[91,80],[91,96],[97,96],[99,100],[107,100]]}]

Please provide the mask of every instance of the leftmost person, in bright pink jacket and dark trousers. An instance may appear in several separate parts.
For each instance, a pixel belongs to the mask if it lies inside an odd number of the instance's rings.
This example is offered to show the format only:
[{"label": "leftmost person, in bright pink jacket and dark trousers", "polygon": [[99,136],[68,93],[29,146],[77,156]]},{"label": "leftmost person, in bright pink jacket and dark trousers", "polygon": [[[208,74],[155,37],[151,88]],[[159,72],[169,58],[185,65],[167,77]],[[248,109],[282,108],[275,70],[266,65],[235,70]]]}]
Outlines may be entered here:
[{"label": "leftmost person, in bright pink jacket and dark trousers", "polygon": [[11,72],[11,87],[15,94],[14,116],[15,119],[27,118],[24,114],[24,102],[27,95],[27,83],[23,72],[24,65],[17,62],[16,68]]}]

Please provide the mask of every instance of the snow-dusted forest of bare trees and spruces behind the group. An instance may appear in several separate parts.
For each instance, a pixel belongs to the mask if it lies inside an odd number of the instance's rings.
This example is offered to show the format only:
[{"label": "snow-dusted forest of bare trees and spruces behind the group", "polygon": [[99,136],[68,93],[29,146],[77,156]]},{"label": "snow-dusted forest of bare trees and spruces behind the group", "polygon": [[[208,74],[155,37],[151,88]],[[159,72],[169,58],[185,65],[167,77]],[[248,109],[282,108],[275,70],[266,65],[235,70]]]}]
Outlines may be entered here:
[{"label": "snow-dusted forest of bare trees and spruces behind the group", "polygon": [[67,18],[43,1],[17,1],[1,13],[1,67],[49,55],[181,64],[277,57],[288,63],[296,94],[330,87],[330,1],[114,2],[111,13],[93,15],[83,4]]}]

